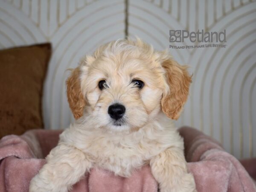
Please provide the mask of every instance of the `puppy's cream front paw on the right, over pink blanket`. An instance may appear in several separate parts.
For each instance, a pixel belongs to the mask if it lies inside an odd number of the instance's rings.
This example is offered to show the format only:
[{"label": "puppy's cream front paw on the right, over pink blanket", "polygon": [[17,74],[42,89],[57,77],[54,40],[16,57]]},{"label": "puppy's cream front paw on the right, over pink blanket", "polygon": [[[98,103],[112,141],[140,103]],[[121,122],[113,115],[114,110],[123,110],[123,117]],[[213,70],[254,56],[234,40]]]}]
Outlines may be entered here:
[{"label": "puppy's cream front paw on the right, over pink blanket", "polygon": [[160,192],[197,192],[194,177],[187,173],[180,180],[177,179],[177,183],[167,180],[160,184]]}]

